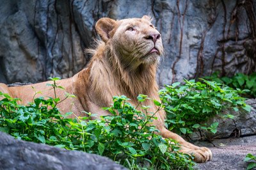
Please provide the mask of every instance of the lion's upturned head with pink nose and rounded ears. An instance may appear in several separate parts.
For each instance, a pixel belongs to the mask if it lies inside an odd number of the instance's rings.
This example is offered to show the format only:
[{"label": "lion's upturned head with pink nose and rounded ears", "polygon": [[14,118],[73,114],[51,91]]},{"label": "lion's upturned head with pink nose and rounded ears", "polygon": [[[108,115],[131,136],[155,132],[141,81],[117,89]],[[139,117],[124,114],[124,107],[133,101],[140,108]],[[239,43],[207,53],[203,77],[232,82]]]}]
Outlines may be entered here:
[{"label": "lion's upturned head with pink nose and rounded ears", "polygon": [[121,57],[122,63],[136,67],[159,63],[163,52],[161,35],[151,21],[146,15],[141,19],[102,18],[96,29],[115,56]]}]

